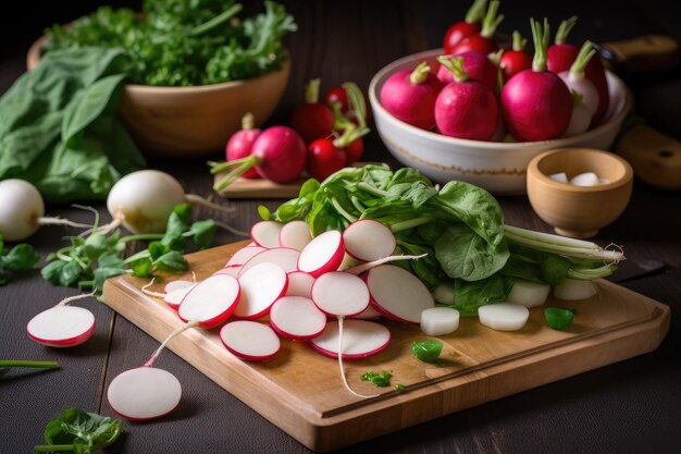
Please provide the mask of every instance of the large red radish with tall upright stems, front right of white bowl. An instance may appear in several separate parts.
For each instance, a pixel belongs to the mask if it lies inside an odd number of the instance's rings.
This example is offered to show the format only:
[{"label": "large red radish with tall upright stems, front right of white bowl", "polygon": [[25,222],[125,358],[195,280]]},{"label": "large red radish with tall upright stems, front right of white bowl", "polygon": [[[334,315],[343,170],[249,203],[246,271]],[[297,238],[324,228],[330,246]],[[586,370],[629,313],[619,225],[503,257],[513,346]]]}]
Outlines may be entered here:
[{"label": "large red radish with tall upright stems, front right of white bowl", "polygon": [[530,20],[534,38],[532,69],[516,74],[502,89],[506,126],[520,140],[547,140],[562,136],[572,115],[570,90],[556,74],[546,71],[549,27]]}]

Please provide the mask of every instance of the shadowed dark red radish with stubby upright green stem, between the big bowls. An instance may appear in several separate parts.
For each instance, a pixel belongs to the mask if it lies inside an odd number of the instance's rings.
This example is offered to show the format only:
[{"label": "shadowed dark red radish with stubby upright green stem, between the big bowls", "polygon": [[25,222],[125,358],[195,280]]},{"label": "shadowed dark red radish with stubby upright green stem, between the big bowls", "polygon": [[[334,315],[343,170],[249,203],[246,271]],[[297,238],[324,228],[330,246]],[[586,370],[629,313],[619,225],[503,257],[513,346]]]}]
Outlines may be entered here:
[{"label": "shadowed dark red radish with stubby upright green stem, between the big bowls", "polygon": [[297,106],[288,124],[306,144],[333,134],[334,116],[329,106],[319,102],[320,79],[311,79],[305,88],[305,102]]}]

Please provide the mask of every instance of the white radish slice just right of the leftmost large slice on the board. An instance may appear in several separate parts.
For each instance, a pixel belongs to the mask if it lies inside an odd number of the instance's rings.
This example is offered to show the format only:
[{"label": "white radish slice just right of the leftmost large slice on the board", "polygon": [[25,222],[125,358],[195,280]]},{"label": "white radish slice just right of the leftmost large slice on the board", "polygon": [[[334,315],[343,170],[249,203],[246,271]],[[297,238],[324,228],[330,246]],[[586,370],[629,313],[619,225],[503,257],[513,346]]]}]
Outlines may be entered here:
[{"label": "white radish slice just right of the leftmost large slice on the board", "polygon": [[234,310],[239,318],[257,319],[286,293],[288,278],[282,267],[274,263],[258,263],[239,275],[242,296]]}]

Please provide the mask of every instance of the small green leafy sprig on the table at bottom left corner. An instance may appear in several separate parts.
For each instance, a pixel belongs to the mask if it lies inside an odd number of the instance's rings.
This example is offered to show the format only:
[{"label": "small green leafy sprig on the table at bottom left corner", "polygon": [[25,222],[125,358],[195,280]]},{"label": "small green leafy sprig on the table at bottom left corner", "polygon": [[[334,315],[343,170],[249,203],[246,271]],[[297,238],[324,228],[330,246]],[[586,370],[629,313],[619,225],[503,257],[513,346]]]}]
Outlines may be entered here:
[{"label": "small green leafy sprig on the table at bottom left corner", "polygon": [[47,445],[37,445],[35,451],[74,452],[90,454],[107,447],[121,434],[121,420],[69,408],[45,428]]}]

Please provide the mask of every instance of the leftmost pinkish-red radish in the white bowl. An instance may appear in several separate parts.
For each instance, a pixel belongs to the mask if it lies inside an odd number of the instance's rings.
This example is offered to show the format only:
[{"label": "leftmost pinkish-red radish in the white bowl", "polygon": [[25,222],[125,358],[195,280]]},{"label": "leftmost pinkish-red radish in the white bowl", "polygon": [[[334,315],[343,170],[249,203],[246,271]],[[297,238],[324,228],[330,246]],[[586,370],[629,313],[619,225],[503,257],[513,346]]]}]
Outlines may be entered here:
[{"label": "leftmost pinkish-red radish in the white bowl", "polygon": [[422,130],[435,124],[433,109],[443,84],[426,62],[413,70],[398,71],[381,87],[381,105],[398,120]]}]

